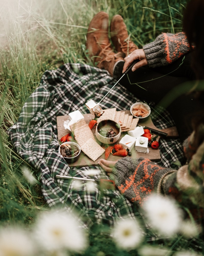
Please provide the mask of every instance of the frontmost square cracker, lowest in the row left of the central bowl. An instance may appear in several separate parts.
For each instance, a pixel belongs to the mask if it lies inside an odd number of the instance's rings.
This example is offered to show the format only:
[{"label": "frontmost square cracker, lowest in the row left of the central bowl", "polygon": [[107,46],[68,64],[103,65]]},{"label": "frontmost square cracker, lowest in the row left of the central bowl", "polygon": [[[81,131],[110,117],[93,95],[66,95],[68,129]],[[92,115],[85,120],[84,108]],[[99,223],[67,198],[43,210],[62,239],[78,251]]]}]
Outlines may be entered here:
[{"label": "frontmost square cracker, lowest in the row left of the central bowl", "polygon": [[84,152],[85,155],[87,155],[89,158],[91,158],[94,162],[96,159],[98,159],[99,156],[101,156],[105,149],[101,147],[95,140],[90,138],[81,146],[81,150]]}]

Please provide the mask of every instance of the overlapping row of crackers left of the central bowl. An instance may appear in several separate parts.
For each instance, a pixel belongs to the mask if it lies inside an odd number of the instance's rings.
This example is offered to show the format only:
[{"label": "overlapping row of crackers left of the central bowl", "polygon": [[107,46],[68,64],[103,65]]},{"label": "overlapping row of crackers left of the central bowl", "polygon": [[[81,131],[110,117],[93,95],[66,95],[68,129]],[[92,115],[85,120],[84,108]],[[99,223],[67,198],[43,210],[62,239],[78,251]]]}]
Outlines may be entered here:
[{"label": "overlapping row of crackers left of the central bowl", "polygon": [[70,128],[81,150],[93,161],[105,152],[105,149],[96,142],[94,134],[84,119],[71,124]]}]

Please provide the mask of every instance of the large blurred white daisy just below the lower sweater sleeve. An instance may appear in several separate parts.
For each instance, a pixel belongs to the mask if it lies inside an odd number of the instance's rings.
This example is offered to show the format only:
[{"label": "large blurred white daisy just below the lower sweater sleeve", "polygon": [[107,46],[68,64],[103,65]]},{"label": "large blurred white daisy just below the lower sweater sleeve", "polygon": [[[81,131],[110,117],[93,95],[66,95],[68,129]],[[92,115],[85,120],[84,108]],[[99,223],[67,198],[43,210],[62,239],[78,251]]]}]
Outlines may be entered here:
[{"label": "large blurred white daisy just below the lower sweater sleeve", "polygon": [[143,209],[152,228],[160,234],[173,236],[179,231],[182,214],[175,200],[152,194],[144,203]]}]

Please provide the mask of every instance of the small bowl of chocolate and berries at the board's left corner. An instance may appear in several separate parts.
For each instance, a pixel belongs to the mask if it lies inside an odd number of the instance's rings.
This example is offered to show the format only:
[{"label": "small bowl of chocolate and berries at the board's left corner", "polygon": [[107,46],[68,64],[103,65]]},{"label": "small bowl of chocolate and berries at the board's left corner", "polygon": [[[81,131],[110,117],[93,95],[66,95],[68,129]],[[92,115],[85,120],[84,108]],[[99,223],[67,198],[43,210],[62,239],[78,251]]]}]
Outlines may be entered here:
[{"label": "small bowl of chocolate and berries at the board's left corner", "polygon": [[65,158],[67,163],[75,162],[81,153],[79,144],[68,141],[59,146],[59,153]]}]

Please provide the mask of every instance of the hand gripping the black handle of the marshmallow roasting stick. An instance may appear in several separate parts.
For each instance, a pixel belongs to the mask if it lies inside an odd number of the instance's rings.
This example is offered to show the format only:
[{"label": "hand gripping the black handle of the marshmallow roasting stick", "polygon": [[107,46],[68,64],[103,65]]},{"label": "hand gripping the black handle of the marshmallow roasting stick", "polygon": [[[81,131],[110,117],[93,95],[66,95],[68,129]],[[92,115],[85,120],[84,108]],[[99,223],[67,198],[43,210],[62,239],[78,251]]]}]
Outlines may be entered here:
[{"label": "hand gripping the black handle of the marshmallow roasting stick", "polygon": [[134,60],[139,59],[139,61],[132,67],[132,71],[135,71],[136,69],[147,65],[147,59],[143,49],[134,50],[128,56],[124,58],[125,63],[123,66],[123,73],[130,66],[130,63],[132,63]]}]

